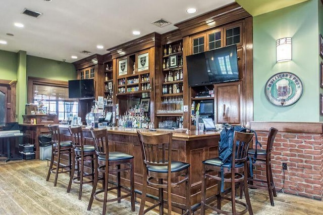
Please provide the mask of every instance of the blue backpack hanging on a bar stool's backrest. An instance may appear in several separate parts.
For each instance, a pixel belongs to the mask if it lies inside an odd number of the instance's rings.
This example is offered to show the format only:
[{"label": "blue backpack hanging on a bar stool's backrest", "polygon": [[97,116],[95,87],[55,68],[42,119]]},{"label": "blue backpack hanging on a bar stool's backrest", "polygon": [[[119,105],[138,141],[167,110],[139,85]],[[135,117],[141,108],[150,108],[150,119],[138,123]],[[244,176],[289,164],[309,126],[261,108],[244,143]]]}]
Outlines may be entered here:
[{"label": "blue backpack hanging on a bar stool's backrest", "polygon": [[[220,133],[220,140],[219,140],[219,158],[222,160],[221,163],[221,178],[222,178],[222,183],[221,183],[221,192],[224,191],[224,174],[223,174],[223,164],[224,163],[230,163],[229,168],[231,168],[232,165],[232,147],[233,147],[233,135],[234,132],[247,132],[247,130],[253,132],[255,134],[255,142],[256,142],[256,150],[255,154],[253,157],[253,162],[256,161],[257,159],[257,145],[261,147],[261,144],[258,142],[257,139],[257,134],[255,131],[250,130],[248,128],[245,128],[240,125],[236,126],[225,126],[223,130]],[[252,162],[251,162],[251,157],[249,157],[250,160],[250,175],[252,176]]]}]

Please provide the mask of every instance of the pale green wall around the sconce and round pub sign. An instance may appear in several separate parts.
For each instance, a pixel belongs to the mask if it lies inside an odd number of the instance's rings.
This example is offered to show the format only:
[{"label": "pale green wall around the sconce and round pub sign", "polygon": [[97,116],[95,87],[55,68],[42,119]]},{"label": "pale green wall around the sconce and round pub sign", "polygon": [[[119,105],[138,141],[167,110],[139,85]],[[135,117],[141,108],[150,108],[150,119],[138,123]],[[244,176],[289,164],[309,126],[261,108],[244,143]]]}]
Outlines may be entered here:
[{"label": "pale green wall around the sconce and round pub sign", "polygon": [[[253,18],[255,121],[317,122],[319,116],[318,9],[307,1]],[[276,40],[292,37],[292,61],[276,63]],[[276,106],[264,94],[268,78],[292,72],[303,83],[303,95],[291,106]]]}]

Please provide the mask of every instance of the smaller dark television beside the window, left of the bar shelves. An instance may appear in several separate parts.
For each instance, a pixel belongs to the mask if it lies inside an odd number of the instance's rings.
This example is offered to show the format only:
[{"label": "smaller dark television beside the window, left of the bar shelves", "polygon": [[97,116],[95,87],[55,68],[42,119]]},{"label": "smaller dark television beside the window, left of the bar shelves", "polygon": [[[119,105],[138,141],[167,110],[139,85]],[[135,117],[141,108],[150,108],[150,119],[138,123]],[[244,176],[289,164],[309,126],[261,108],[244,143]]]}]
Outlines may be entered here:
[{"label": "smaller dark television beside the window, left of the bar shelves", "polygon": [[69,98],[86,99],[94,97],[94,80],[69,80]]}]

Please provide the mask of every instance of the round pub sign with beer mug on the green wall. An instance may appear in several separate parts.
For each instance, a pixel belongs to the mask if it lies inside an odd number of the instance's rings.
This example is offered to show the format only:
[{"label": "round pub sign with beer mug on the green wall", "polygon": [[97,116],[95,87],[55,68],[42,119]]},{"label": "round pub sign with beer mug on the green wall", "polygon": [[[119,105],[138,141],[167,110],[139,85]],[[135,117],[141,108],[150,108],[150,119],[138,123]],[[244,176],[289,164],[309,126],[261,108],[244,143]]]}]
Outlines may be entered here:
[{"label": "round pub sign with beer mug on the green wall", "polygon": [[274,105],[288,106],[302,96],[303,84],[295,74],[280,72],[267,80],[264,93]]}]

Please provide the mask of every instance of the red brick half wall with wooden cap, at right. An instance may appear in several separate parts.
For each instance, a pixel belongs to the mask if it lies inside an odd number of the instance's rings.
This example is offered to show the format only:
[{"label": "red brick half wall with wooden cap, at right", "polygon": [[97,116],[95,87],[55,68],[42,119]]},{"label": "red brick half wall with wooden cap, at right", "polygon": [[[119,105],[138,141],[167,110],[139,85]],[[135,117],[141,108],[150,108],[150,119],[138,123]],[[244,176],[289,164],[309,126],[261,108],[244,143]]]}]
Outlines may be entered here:
[{"label": "red brick half wall with wooden cap, at right", "polygon": [[[276,127],[272,151],[272,168],[276,190],[322,200],[323,196],[323,124],[307,122],[258,122],[250,123],[265,149],[268,130]],[[284,171],[282,164],[287,163]],[[255,177],[265,178],[264,166],[254,171]]]}]

